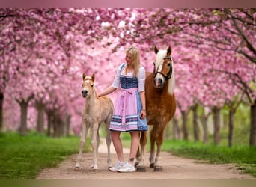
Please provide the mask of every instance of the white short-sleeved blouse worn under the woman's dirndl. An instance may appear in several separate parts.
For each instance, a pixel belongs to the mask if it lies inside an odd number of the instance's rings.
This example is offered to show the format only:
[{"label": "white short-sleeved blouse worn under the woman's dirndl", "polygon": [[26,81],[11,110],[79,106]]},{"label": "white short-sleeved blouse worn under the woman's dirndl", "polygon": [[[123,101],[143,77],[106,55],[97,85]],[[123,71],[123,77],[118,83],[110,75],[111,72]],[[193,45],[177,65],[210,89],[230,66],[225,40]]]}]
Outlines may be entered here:
[{"label": "white short-sleeved blouse worn under the woman's dirndl", "polygon": [[[117,73],[115,74],[115,79],[112,83],[112,87],[114,88],[119,88],[120,86],[120,76],[124,76],[124,71],[121,72],[123,64],[121,64],[118,67]],[[126,64],[124,65],[125,68]],[[123,68],[123,70],[124,70]],[[132,73],[128,73],[126,76],[132,76]],[[138,74],[137,74],[137,79],[138,79],[138,92],[145,91],[145,79],[146,79],[146,73],[144,67],[139,67],[138,69]]]}]

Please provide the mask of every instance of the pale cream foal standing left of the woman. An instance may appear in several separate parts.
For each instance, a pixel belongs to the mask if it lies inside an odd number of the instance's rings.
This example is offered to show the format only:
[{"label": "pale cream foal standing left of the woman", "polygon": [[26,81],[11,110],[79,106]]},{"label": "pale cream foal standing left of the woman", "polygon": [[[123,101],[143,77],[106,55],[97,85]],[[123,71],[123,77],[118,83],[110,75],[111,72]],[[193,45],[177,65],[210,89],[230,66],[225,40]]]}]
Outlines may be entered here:
[{"label": "pale cream foal standing left of the woman", "polygon": [[82,75],[82,96],[86,99],[85,107],[82,110],[82,131],[80,138],[79,155],[76,160],[76,168],[81,168],[82,151],[85,146],[88,129],[92,129],[91,147],[93,150],[93,164],[91,169],[97,170],[97,154],[100,144],[99,128],[100,124],[106,126],[106,144],[108,149],[107,164],[111,167],[110,144],[112,138],[110,136],[109,125],[112,118],[114,105],[108,96],[97,97],[94,87],[95,75]]}]

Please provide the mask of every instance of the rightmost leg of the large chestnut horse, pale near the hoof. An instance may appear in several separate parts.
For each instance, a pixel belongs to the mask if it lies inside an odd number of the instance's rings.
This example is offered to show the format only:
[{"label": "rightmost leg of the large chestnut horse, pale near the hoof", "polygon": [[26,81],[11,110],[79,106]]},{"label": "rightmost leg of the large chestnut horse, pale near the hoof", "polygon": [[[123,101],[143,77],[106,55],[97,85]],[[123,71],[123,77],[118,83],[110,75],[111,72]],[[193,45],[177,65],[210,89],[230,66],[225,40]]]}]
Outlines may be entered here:
[{"label": "rightmost leg of the large chestnut horse, pale near the hoof", "polygon": [[161,147],[162,147],[164,130],[165,130],[165,126],[162,127],[162,129],[159,132],[159,135],[156,138],[156,146],[157,146],[156,159],[155,159],[156,163],[154,165],[153,171],[162,171],[162,165],[161,165],[160,159],[161,159]]}]

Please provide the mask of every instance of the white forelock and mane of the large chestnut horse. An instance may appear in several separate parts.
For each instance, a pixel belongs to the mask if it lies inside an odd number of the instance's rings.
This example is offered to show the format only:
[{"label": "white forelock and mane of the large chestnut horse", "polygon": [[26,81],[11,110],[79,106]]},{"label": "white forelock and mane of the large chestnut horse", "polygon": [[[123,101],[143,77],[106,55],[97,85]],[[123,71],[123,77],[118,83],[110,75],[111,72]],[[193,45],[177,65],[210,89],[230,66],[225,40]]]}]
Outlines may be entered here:
[{"label": "white forelock and mane of the large chestnut horse", "polygon": [[[159,68],[159,66],[162,66],[163,58],[165,58],[166,53],[167,53],[166,50],[159,50],[159,52],[157,52],[156,61],[155,61],[157,69]],[[172,66],[172,74],[171,74],[171,78],[168,79],[168,93],[173,94],[174,87],[175,87],[175,71],[174,71],[174,64],[173,64],[172,58],[171,58],[171,66]]]}]

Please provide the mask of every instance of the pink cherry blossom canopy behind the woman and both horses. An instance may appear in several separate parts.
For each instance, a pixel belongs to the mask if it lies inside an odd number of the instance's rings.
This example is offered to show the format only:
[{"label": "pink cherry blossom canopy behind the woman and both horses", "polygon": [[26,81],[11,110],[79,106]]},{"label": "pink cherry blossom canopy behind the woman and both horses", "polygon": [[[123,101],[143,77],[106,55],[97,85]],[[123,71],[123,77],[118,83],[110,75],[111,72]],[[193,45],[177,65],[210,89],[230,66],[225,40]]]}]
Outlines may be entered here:
[{"label": "pink cherry blossom canopy behind the woman and both horses", "polygon": [[[112,83],[127,46],[138,46],[147,71],[153,70],[153,46],[171,46],[183,129],[192,108],[195,121],[197,105],[211,108],[204,119],[214,113],[218,144],[219,111],[244,95],[252,112],[250,144],[256,144],[255,15],[255,9],[0,9],[0,128],[3,108],[10,110],[14,99],[21,116],[36,117],[38,132],[46,121],[48,135],[52,128],[55,136],[69,129],[77,134],[82,73],[96,73],[100,92]],[[5,118],[10,114],[4,109]]]}]

